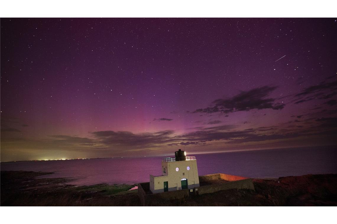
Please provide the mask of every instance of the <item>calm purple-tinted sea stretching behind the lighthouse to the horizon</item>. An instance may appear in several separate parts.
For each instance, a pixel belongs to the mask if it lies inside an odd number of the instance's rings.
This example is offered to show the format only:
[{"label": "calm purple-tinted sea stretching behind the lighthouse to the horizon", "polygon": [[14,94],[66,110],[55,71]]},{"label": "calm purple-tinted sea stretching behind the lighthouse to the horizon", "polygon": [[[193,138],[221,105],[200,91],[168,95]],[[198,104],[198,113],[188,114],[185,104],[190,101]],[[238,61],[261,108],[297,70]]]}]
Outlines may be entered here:
[{"label": "calm purple-tinted sea stretching behind the lighthouse to the horizon", "polygon": [[[337,147],[331,146],[195,154],[195,157],[199,175],[226,173],[261,178],[337,173]],[[68,177],[72,179],[69,183],[75,185],[134,184],[148,182],[149,174],[160,175],[161,158],[1,163],[1,170],[55,172],[42,177]]]}]

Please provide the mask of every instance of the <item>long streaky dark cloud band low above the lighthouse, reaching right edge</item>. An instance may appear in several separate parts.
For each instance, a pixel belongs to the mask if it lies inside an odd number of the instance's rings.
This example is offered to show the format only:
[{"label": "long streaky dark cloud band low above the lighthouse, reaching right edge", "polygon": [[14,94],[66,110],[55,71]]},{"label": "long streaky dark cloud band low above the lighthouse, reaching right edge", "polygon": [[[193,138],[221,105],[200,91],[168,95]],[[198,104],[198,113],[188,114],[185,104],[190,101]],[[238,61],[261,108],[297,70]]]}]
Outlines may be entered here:
[{"label": "long streaky dark cloud band low above the lighthouse, reaching right edge", "polygon": [[[316,120],[315,120],[316,119]],[[223,125],[217,127],[208,127],[194,129],[195,131],[176,135],[173,130],[166,130],[155,133],[138,133],[132,132],[115,132],[115,131],[99,131],[94,132],[94,136],[98,142],[105,146],[119,145],[131,148],[158,147],[160,145],[179,146],[179,145],[204,145],[212,141],[225,141],[226,143],[246,143],[259,142],[266,140],[280,140],[302,137],[303,135],[317,135],[322,133],[333,133],[337,123],[336,118],[310,118],[304,121],[294,120],[284,123],[295,123],[292,128],[281,128],[283,124],[272,127],[249,128],[245,130],[235,130],[237,127],[233,125]],[[303,130],[303,125],[307,121],[316,122],[310,128]],[[299,124],[299,125],[298,125]],[[306,125],[308,126],[308,124]]]}]

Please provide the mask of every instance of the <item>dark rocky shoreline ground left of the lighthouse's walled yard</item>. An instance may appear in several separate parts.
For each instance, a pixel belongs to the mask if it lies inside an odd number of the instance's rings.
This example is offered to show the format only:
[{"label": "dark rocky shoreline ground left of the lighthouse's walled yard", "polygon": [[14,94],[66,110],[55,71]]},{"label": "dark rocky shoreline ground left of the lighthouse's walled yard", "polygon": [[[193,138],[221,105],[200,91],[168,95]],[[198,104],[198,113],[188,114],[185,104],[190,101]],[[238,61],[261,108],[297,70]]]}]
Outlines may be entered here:
[{"label": "dark rocky shoreline ground left of the lighthouse's walled yard", "polygon": [[140,206],[133,185],[74,186],[46,172],[1,171],[1,206]]}]

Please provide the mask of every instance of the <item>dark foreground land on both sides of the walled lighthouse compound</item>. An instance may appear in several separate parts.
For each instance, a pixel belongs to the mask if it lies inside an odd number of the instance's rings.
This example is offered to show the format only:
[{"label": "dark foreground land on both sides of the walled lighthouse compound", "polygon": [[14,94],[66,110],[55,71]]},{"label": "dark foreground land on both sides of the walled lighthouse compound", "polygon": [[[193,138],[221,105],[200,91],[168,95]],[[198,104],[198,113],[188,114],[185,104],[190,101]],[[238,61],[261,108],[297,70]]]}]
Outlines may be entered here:
[{"label": "dark foreground land on both sides of the walled lighthouse compound", "polygon": [[[1,206],[140,206],[137,190],[120,184],[74,186],[49,173],[1,171]],[[254,179],[255,191],[222,190],[162,206],[337,206],[337,174]]]}]

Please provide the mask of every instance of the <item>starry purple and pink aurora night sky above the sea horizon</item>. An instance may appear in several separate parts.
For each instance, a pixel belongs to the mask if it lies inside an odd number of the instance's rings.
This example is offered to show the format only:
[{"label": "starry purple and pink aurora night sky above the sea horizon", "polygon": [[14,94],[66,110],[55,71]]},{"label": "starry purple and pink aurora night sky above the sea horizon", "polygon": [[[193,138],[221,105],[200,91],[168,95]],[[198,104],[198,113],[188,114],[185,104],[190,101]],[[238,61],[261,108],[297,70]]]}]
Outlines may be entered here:
[{"label": "starry purple and pink aurora night sky above the sea horizon", "polygon": [[1,162],[337,145],[335,18],[1,18]]}]

